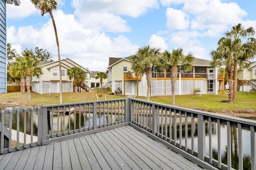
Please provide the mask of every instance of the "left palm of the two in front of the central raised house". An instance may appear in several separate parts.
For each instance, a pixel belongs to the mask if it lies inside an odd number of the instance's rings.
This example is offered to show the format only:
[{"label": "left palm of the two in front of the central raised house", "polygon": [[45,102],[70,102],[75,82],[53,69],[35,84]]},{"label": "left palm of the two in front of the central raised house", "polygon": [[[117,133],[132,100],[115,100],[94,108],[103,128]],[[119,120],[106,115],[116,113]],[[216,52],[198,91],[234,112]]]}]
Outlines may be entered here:
[{"label": "left palm of the two in front of the central raised house", "polygon": [[132,57],[132,69],[137,73],[146,74],[148,91],[147,100],[150,97],[150,86],[152,83],[151,65],[158,66],[160,64],[160,48],[145,46],[138,48],[136,55]]}]

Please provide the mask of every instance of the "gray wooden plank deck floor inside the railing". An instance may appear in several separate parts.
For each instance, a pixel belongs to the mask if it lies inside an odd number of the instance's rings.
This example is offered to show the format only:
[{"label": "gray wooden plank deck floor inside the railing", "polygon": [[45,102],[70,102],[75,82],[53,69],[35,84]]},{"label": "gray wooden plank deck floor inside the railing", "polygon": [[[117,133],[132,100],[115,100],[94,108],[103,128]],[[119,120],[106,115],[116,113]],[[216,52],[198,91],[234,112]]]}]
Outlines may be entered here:
[{"label": "gray wooden plank deck floor inside the railing", "polygon": [[200,167],[138,130],[124,126],[0,155],[0,170],[186,169]]}]

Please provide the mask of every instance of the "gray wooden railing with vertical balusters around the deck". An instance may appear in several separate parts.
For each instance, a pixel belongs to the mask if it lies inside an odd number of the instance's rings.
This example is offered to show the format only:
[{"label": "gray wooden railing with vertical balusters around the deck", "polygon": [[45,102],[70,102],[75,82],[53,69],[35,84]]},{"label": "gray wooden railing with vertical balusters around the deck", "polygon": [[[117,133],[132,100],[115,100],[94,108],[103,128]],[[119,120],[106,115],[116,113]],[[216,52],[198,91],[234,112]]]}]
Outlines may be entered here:
[{"label": "gray wooden railing with vertical balusters around the deck", "polygon": [[[1,133],[1,154],[131,125],[206,169],[246,168],[243,150],[249,148],[250,168],[255,169],[256,121],[248,119],[134,98],[4,110],[0,115],[1,132],[9,128],[8,134]],[[3,135],[9,136],[7,148]],[[14,137],[17,143],[11,147]]]}]

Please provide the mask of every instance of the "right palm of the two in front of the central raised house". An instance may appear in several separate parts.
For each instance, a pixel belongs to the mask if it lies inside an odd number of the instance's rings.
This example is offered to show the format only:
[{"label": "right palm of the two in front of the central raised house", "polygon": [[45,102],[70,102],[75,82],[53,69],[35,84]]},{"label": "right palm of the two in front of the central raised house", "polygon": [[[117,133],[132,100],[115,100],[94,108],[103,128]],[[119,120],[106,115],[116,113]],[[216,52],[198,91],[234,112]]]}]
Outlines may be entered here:
[{"label": "right palm of the two in front of the central raised house", "polygon": [[162,54],[161,65],[158,67],[160,70],[170,71],[171,75],[171,87],[172,87],[172,105],[175,105],[175,83],[178,77],[178,66],[185,71],[190,71],[193,69],[192,63],[194,62],[194,57],[192,53],[188,55],[183,54],[182,48],[173,49],[170,53],[165,50]]}]

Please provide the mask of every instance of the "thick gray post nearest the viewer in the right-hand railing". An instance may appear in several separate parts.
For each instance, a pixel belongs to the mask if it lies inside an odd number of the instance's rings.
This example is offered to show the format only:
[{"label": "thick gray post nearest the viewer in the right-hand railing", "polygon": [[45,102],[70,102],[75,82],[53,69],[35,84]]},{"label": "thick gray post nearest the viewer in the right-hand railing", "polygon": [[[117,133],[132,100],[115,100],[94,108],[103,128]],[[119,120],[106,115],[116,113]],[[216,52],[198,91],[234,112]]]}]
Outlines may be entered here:
[{"label": "thick gray post nearest the viewer in the right-hand railing", "polygon": [[205,156],[205,120],[203,115],[197,117],[197,136],[198,136],[198,158],[204,161]]}]

